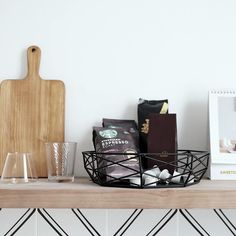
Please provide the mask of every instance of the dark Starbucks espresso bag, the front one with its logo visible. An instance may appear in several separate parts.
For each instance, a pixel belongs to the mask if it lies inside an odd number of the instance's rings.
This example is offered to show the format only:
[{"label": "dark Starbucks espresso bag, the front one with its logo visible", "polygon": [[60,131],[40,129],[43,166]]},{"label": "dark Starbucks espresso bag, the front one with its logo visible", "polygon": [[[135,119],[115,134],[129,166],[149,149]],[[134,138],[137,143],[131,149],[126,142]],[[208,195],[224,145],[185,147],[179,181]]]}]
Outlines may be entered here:
[{"label": "dark Starbucks espresso bag, the front one with its logo visible", "polygon": [[107,153],[98,154],[100,174],[103,174],[106,180],[119,181],[119,178],[139,172],[139,160],[134,155],[138,153],[138,147],[129,131],[118,127],[94,127],[93,142],[96,152]]}]

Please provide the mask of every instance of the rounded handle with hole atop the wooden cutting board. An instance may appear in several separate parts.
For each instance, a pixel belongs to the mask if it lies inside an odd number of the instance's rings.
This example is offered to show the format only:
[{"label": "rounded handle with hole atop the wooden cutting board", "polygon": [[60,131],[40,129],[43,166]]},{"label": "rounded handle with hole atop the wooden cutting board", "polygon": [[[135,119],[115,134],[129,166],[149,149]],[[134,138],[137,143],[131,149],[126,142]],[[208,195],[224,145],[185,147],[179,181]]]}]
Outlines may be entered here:
[{"label": "rounded handle with hole atop the wooden cutting board", "polygon": [[41,58],[41,50],[37,46],[31,46],[27,50],[27,60],[28,60],[28,75],[27,79],[32,79],[32,77],[39,77],[39,65]]}]

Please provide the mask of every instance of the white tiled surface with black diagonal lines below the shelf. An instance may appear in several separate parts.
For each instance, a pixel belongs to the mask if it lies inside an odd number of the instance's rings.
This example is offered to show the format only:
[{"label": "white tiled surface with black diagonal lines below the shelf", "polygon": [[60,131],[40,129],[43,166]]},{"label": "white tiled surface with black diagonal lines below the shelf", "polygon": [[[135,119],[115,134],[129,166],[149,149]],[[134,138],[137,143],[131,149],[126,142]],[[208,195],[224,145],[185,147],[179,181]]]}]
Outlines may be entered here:
[{"label": "white tiled surface with black diagonal lines below the shelf", "polygon": [[0,236],[232,236],[236,210],[0,209]]}]

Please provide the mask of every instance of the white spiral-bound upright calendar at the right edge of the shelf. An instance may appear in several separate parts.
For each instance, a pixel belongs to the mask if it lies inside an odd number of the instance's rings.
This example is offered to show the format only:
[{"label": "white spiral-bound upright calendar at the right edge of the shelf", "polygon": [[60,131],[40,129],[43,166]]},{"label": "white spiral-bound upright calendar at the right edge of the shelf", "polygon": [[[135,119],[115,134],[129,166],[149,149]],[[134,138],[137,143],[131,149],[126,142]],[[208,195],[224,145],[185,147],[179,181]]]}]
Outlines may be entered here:
[{"label": "white spiral-bound upright calendar at the right edge of the shelf", "polygon": [[211,179],[236,179],[236,92],[209,92]]}]

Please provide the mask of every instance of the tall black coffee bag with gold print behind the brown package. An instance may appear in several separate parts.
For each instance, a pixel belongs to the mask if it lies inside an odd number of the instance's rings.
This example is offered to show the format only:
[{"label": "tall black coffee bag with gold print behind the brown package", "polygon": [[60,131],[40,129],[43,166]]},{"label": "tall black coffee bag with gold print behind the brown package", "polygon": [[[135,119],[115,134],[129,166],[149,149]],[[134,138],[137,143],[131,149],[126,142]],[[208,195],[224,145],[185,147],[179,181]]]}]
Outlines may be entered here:
[{"label": "tall black coffee bag with gold print behind the brown package", "polygon": [[142,153],[147,152],[147,136],[149,132],[150,114],[167,114],[168,100],[145,100],[139,99],[138,104],[138,130],[139,148]]}]

